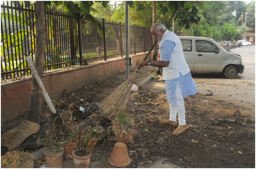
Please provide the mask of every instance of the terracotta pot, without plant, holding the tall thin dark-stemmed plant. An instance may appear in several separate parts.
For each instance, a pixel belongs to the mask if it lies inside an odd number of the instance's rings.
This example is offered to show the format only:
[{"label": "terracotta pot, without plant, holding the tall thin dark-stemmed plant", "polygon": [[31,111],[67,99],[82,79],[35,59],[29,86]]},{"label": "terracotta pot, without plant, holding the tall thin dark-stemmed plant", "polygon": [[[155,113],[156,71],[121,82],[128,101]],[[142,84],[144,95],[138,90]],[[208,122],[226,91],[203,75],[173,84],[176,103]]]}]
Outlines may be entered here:
[{"label": "terracotta pot, without plant, holding the tall thin dark-stemmed plant", "polygon": [[63,162],[63,153],[64,153],[63,149],[61,151],[57,151],[57,152],[45,151],[44,156],[45,156],[47,165],[49,167],[61,166],[61,164]]}]

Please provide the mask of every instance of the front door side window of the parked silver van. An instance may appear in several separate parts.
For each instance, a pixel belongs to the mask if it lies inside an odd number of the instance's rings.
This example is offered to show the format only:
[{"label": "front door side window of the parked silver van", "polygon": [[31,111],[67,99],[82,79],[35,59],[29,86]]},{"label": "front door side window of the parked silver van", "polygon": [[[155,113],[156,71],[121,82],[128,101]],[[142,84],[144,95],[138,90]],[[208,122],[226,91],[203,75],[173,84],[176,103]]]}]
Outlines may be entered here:
[{"label": "front door side window of the parked silver van", "polygon": [[220,49],[207,40],[196,40],[196,52],[219,53]]}]

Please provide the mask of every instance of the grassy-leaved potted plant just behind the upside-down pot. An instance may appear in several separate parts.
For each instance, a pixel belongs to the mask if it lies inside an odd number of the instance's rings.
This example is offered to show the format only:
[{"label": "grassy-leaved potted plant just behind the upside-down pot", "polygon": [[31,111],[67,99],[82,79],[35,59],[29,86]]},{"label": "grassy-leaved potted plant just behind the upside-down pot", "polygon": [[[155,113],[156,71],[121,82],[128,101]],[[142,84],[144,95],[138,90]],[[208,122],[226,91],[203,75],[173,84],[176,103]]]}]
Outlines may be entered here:
[{"label": "grassy-leaved potted plant just behind the upside-down pot", "polygon": [[117,115],[113,129],[115,130],[117,142],[129,143],[133,141],[135,135],[134,119],[128,117],[125,110],[121,110],[120,114]]}]

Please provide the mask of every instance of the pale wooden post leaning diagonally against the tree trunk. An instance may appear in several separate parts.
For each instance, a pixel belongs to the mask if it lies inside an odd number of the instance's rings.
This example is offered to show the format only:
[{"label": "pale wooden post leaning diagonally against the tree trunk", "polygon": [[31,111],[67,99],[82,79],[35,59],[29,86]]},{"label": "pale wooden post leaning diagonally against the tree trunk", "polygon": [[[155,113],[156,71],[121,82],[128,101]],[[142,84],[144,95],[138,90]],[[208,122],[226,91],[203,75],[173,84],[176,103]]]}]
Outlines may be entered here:
[{"label": "pale wooden post leaning diagonally against the tree trunk", "polygon": [[44,96],[44,100],[46,101],[47,106],[49,107],[49,109],[52,112],[52,114],[57,113],[55,108],[54,108],[54,106],[53,106],[53,104],[52,104],[52,100],[50,99],[48,93],[46,92],[46,90],[44,88],[44,85],[43,85],[43,83],[42,83],[42,81],[41,81],[41,79],[40,79],[40,77],[39,77],[39,75],[38,75],[38,73],[37,73],[37,71],[35,69],[35,65],[34,65],[32,59],[30,58],[30,56],[26,57],[26,61],[27,61],[28,65],[30,66],[30,70],[33,73],[35,81],[37,82],[38,86],[42,90],[42,94]]}]

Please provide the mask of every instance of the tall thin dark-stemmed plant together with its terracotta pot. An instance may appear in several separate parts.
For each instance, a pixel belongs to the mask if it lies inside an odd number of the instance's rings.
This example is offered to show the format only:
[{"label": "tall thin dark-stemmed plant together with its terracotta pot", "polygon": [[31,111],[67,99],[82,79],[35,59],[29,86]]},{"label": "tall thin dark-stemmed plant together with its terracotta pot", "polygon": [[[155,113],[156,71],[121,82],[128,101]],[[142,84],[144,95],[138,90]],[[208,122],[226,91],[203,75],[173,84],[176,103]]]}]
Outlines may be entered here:
[{"label": "tall thin dark-stemmed plant together with its terracotta pot", "polygon": [[46,158],[46,163],[49,167],[58,167],[63,162],[63,146],[65,141],[63,140],[62,128],[60,125],[55,124],[54,121],[50,118],[50,115],[47,114],[48,118],[48,127],[46,130],[46,151],[44,156]]}]

